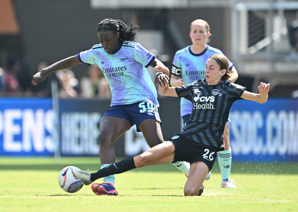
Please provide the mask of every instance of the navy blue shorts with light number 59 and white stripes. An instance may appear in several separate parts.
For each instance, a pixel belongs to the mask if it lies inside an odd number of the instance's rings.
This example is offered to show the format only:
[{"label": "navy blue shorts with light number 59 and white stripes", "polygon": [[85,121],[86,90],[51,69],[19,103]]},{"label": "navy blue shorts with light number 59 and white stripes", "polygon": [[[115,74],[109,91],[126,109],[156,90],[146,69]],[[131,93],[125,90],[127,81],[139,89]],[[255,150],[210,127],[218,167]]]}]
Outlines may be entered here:
[{"label": "navy blue shorts with light number 59 and white stripes", "polygon": [[113,105],[108,111],[105,112],[105,116],[114,116],[119,118],[125,118],[126,120],[136,125],[136,131],[140,132],[140,123],[148,118],[154,119],[162,124],[159,118],[158,107],[148,102],[136,102],[127,105]]}]

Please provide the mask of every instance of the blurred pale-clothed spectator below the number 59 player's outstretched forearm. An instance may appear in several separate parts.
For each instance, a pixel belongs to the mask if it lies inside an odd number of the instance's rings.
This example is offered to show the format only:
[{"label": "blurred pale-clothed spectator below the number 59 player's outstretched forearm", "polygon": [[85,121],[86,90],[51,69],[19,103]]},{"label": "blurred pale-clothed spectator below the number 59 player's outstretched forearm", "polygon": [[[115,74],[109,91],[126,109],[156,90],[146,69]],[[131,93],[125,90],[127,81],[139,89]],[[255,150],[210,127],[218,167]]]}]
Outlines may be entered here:
[{"label": "blurred pale-clothed spectator below the number 59 player's outstretched forearm", "polygon": [[74,72],[70,69],[63,69],[56,72],[60,88],[60,98],[75,98],[80,90],[79,81],[75,78]]}]

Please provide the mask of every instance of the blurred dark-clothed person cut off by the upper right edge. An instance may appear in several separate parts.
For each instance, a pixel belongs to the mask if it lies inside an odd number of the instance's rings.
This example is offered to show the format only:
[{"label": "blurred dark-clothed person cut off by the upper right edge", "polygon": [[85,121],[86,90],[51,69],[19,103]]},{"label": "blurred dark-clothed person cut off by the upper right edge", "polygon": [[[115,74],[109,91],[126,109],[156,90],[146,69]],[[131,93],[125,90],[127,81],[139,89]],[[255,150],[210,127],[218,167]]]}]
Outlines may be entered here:
[{"label": "blurred dark-clothed person cut off by the upper right edge", "polygon": [[298,61],[298,11],[296,12],[295,17],[296,19],[288,26],[291,44],[291,53],[288,55],[288,61]]}]

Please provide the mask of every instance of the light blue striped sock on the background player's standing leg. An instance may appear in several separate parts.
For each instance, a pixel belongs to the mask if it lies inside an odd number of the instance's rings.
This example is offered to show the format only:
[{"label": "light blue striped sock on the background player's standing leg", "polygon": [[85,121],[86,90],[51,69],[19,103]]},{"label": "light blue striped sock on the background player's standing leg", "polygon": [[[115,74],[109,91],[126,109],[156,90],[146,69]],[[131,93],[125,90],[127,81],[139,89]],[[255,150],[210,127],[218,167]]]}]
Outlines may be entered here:
[{"label": "light blue striped sock on the background player's standing leg", "polygon": [[228,150],[218,152],[218,164],[221,169],[221,180],[229,179],[232,165],[232,150],[231,147]]}]

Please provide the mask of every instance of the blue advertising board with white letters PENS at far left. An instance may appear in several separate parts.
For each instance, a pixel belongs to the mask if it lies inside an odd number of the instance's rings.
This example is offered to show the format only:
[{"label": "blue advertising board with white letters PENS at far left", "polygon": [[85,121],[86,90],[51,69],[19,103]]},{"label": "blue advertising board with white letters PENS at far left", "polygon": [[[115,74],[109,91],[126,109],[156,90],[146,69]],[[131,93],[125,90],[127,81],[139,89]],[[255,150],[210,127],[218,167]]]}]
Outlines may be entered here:
[{"label": "blue advertising board with white letters PENS at far left", "polygon": [[0,155],[53,155],[52,100],[0,99]]}]

